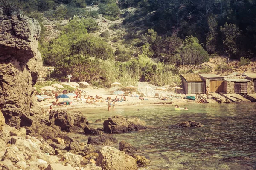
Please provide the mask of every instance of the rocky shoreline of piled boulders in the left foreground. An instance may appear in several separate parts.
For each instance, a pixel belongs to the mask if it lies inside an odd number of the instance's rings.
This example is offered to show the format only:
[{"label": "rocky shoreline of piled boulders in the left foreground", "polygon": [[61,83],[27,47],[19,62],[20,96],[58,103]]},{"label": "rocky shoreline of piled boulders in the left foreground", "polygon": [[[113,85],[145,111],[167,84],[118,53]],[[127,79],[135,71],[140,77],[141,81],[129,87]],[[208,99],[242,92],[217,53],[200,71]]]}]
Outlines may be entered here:
[{"label": "rocky shoreline of piled boulders in the left foreground", "polygon": [[[35,124],[20,129],[1,124],[0,170],[137,170],[150,162],[125,141],[119,142],[119,150],[109,146],[118,142],[110,133],[147,128],[137,118],[114,116],[105,120],[99,130],[89,127],[79,113],[57,110],[47,119],[38,116]],[[90,136],[84,144],[61,130],[97,137]],[[95,149],[98,145],[103,146],[101,150]]]}]

